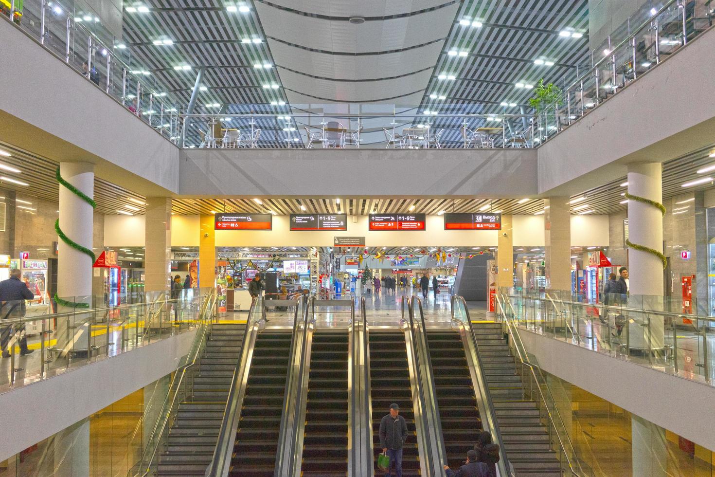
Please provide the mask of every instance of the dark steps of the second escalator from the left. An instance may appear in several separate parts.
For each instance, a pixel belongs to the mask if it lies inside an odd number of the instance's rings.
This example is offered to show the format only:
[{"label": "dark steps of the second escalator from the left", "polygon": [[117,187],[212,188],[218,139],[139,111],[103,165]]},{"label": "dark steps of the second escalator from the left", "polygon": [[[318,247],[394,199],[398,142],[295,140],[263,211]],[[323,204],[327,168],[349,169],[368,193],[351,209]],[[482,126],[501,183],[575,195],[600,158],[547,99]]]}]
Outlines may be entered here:
[{"label": "dark steps of the second escalator from the left", "polygon": [[347,476],[348,335],[312,337],[302,476]]}]

